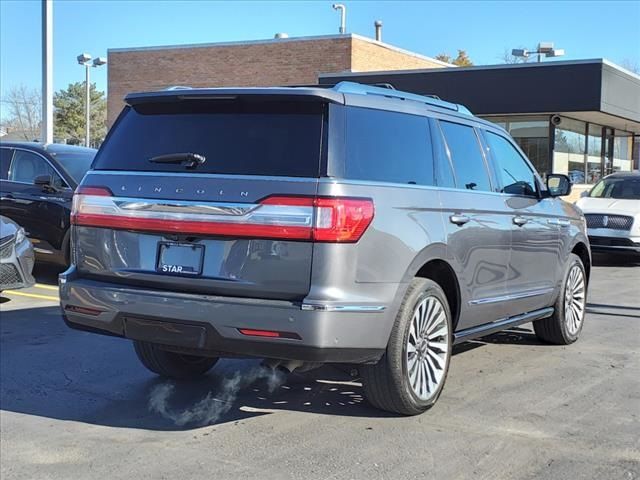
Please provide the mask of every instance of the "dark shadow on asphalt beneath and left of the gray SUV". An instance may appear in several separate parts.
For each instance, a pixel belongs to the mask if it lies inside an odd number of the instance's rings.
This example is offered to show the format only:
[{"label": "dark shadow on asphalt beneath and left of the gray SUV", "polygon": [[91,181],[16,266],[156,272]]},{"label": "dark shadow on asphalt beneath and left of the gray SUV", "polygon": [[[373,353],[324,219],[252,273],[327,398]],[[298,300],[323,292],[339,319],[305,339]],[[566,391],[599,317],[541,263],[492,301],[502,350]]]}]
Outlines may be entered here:
[{"label": "dark shadow on asphalt beneath and left of the gray SUV", "polygon": [[[458,355],[487,343],[533,342],[526,330],[513,329],[458,345]],[[533,337],[535,339],[535,337]],[[294,410],[327,415],[392,417],[370,407],[350,368],[325,366],[291,374],[274,391],[264,380],[245,386],[213,422],[176,425],[149,410],[152,391],[172,382],[141,366],[129,341],[69,329],[58,307],[3,311],[0,317],[0,408],[41,417],[112,427],[186,430],[207,424]],[[538,342],[536,342],[538,343]],[[258,360],[224,359],[202,380],[176,384],[167,398],[174,413],[193,409],[221,385],[249,374]]]}]

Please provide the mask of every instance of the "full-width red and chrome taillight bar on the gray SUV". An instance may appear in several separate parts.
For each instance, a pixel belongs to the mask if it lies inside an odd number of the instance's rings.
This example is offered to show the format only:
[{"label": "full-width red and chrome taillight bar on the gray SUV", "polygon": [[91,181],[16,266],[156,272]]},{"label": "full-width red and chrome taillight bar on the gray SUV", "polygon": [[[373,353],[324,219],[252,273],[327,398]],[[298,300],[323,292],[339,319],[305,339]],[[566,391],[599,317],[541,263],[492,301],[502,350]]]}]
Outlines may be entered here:
[{"label": "full-width red and chrome taillight bar on the gray SUV", "polygon": [[134,231],[357,242],[374,215],[369,198],[280,196],[256,204],[114,197],[104,187],[80,187],[71,222]]}]

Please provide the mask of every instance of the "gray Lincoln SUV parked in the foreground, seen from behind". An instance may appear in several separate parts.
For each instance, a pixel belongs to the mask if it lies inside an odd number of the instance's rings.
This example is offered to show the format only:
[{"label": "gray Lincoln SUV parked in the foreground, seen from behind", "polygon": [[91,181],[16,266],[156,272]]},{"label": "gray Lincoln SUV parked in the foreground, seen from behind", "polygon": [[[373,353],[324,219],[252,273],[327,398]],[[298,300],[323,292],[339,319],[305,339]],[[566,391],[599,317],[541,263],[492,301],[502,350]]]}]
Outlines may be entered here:
[{"label": "gray Lincoln SUV parked in the foreground, seen from behind", "polygon": [[579,211],[504,130],[392,89],[130,94],[74,196],[66,323],[173,378],[220,357],[358,364],[371,404],[435,403],[453,345],[582,329]]}]

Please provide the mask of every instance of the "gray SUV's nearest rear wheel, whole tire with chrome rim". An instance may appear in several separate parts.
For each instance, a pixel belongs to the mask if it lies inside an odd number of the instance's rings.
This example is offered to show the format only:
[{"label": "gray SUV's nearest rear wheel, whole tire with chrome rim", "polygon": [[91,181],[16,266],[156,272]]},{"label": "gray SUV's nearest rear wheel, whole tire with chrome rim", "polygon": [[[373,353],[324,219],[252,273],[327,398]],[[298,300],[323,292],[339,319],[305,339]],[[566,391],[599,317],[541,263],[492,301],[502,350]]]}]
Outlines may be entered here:
[{"label": "gray SUV's nearest rear wheel, whole tire with chrome rim", "polygon": [[438,400],[449,371],[453,322],[437,283],[415,278],[402,301],[387,349],[361,368],[364,393],[376,408],[417,415]]}]

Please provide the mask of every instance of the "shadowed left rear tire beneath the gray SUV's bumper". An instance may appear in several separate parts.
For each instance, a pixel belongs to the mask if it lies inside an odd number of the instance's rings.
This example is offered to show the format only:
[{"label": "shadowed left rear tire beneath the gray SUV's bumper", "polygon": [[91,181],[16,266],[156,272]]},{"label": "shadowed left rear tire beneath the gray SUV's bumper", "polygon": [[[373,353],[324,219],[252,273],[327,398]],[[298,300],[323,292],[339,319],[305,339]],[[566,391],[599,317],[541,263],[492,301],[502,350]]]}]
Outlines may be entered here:
[{"label": "shadowed left rear tire beneath the gray SUV's bumper", "polygon": [[133,346],[142,364],[162,377],[176,380],[190,380],[201,377],[213,367],[216,357],[183,355],[163,350],[159,345],[133,341]]}]

